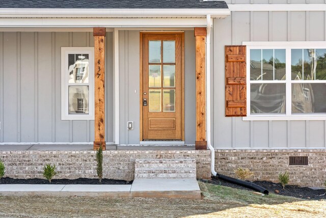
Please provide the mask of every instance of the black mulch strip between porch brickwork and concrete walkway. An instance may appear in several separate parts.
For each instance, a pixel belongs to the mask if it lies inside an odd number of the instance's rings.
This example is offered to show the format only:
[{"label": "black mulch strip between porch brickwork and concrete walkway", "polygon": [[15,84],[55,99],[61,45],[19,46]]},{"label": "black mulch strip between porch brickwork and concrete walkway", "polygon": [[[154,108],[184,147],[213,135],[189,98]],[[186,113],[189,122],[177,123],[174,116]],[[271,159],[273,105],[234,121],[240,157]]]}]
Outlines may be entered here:
[{"label": "black mulch strip between porch brickwork and concrete walkway", "polygon": [[101,183],[98,179],[52,179],[51,183],[45,179],[13,179],[4,177],[0,179],[0,184],[59,184],[59,185],[71,185],[71,184],[90,184],[90,185],[126,185],[132,184],[132,181],[115,180],[115,179],[102,179]]}]

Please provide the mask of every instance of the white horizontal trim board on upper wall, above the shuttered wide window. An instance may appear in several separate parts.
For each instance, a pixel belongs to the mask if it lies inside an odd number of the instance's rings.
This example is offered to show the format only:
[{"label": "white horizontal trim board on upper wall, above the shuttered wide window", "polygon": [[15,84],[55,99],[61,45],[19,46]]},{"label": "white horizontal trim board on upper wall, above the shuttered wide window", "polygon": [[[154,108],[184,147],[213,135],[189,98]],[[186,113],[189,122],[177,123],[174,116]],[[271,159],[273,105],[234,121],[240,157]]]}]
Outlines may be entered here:
[{"label": "white horizontal trim board on upper wall, above the shuttered wide window", "polygon": [[229,4],[231,11],[326,11],[326,4]]}]

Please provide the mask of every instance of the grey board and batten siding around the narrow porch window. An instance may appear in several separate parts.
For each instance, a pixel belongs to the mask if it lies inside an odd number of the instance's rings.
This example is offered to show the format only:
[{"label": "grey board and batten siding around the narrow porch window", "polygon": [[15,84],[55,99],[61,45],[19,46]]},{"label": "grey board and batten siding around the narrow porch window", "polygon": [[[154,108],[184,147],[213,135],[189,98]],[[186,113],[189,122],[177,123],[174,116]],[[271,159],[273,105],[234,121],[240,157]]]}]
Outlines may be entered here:
[{"label": "grey board and batten siding around the narrow porch window", "polygon": [[[61,120],[61,47],[89,32],[0,32],[0,142],[93,142],[94,121]],[[106,141],[113,141],[113,34],[106,37]],[[107,113],[110,112],[110,113]]]}]

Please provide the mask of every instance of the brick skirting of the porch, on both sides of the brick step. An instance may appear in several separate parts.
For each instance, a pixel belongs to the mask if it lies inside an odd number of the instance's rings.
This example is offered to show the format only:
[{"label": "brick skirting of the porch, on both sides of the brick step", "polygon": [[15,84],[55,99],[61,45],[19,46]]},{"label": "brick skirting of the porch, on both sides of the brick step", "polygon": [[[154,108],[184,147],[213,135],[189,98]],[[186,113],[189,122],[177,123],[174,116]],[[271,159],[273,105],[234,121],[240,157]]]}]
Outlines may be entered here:
[{"label": "brick skirting of the porch, on both sides of the brick step", "polygon": [[[43,167],[55,164],[55,179],[97,178],[95,151],[0,151],[5,177],[43,178]],[[207,150],[115,150],[103,151],[103,177],[134,179],[135,159],[196,159],[197,178],[210,178]]]}]

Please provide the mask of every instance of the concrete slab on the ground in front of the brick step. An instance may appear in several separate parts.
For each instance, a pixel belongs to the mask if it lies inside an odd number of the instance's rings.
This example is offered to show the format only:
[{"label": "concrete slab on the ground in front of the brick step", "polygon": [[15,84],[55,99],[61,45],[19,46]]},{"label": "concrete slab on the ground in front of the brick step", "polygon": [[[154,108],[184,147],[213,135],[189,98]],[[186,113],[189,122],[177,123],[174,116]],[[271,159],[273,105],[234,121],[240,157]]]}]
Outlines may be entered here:
[{"label": "concrete slab on the ground in front of the brick step", "polygon": [[135,179],[130,193],[132,197],[142,198],[201,199],[200,188],[194,178]]}]

